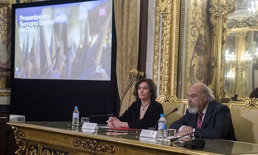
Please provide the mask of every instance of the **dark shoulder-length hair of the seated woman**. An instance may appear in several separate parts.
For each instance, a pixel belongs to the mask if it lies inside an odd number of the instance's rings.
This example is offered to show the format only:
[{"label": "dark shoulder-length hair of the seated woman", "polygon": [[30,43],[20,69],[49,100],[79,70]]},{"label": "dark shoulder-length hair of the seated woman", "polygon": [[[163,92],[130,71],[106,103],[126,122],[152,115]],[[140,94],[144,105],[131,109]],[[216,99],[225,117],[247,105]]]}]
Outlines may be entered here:
[{"label": "dark shoulder-length hair of the seated woman", "polygon": [[155,100],[156,97],[157,97],[157,94],[156,94],[156,91],[157,91],[157,87],[155,85],[155,83],[149,79],[149,78],[141,78],[139,79],[136,83],[135,83],[135,86],[134,86],[134,90],[133,90],[133,95],[136,97],[137,100],[139,100],[139,95],[138,95],[138,87],[139,87],[139,84],[141,82],[147,82],[148,85],[149,85],[149,88],[150,88],[150,93],[151,93],[151,100]]}]

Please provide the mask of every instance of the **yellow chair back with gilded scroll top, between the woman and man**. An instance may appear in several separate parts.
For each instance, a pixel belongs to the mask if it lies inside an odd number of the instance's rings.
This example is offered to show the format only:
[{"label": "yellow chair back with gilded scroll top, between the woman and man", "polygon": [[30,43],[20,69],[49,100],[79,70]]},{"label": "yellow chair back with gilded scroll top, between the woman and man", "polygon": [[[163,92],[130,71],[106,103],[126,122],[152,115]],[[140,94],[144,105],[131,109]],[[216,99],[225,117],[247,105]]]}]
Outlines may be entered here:
[{"label": "yellow chair back with gilded scroll top, between the woman and man", "polygon": [[158,99],[156,99],[163,106],[164,115],[167,116],[170,112],[172,112],[175,108],[178,110],[174,113],[171,113],[166,117],[167,128],[179,118],[185,115],[187,110],[187,100],[186,99],[177,99],[176,96],[169,96],[168,98],[165,95],[160,95]]}]

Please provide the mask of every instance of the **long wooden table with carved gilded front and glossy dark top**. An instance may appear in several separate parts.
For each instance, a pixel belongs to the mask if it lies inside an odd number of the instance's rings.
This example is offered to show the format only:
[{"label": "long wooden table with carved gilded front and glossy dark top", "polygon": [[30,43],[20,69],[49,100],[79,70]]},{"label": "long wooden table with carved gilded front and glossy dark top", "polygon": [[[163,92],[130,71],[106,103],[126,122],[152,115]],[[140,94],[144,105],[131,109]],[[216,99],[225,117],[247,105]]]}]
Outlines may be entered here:
[{"label": "long wooden table with carved gilded front and glossy dark top", "polygon": [[[73,129],[71,122],[7,123],[14,130],[18,150],[15,155],[225,155],[258,154],[258,145],[204,139],[204,149],[188,149],[159,144],[140,137],[140,131]],[[94,132],[94,133],[93,133]]]}]

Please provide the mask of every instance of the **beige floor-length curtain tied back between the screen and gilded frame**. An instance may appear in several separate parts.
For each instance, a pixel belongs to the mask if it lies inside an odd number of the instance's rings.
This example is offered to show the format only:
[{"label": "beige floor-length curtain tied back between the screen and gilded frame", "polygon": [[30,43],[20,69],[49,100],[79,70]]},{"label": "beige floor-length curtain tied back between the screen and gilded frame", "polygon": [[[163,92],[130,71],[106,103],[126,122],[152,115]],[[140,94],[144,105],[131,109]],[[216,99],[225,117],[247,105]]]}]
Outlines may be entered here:
[{"label": "beige floor-length curtain tied back between the screen and gilded frame", "polygon": [[[114,0],[117,32],[117,82],[120,99],[126,90],[132,75],[129,71],[137,69],[137,0]],[[135,97],[132,95],[134,82],[121,103],[122,115]]]}]

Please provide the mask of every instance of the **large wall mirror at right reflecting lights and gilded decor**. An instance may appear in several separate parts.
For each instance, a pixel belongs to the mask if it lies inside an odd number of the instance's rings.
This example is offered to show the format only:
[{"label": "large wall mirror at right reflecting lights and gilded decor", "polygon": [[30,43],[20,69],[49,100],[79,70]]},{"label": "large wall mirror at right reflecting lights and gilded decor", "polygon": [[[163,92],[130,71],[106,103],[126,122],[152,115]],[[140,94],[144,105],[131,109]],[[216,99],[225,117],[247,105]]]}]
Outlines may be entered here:
[{"label": "large wall mirror at right reflecting lights and gilded decor", "polygon": [[226,97],[248,97],[258,87],[258,0],[241,0],[228,14],[225,40],[224,91]]}]

